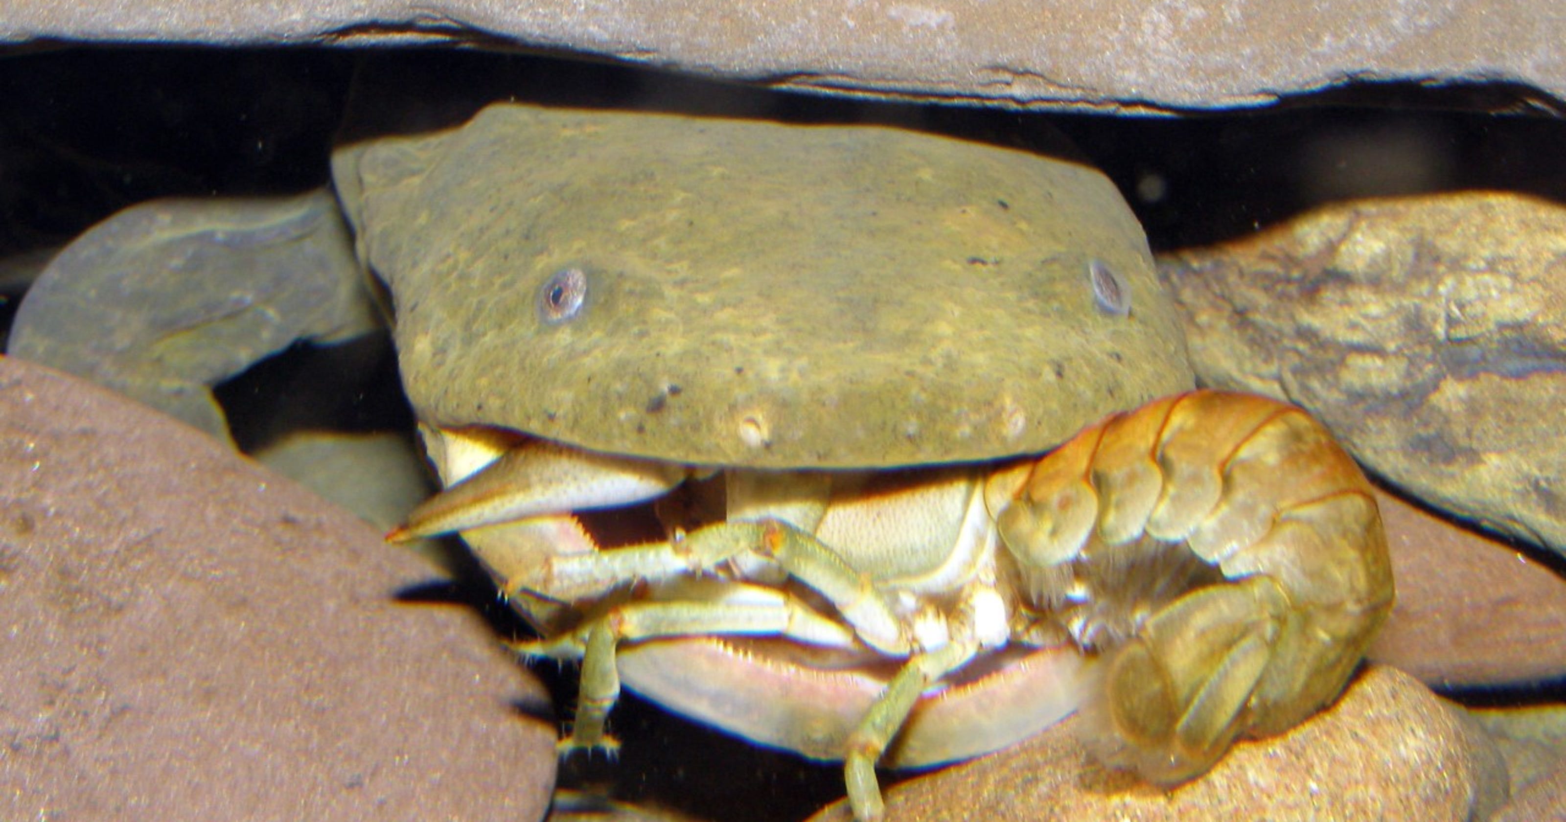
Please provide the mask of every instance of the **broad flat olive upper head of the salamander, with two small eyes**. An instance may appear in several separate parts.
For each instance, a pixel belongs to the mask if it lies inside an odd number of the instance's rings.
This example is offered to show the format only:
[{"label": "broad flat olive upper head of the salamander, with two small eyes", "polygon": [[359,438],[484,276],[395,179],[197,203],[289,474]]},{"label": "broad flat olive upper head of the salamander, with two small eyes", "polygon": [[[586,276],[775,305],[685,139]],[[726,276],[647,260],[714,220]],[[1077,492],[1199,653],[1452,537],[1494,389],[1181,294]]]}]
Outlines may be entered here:
[{"label": "broad flat olive upper head of the salamander, with two small eyes", "polygon": [[885,467],[1041,451],[1192,385],[1142,229],[1076,163],[874,125],[493,105],[335,164],[437,426]]}]

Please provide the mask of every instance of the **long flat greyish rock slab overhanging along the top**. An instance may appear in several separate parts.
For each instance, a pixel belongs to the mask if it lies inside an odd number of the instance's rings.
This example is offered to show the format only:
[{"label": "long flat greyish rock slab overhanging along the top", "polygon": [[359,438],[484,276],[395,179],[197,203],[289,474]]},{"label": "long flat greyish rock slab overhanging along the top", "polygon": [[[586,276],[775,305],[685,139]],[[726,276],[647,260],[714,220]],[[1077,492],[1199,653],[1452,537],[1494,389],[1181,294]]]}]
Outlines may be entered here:
[{"label": "long flat greyish rock slab overhanging along the top", "polygon": [[792,0],[13,0],[0,42],[531,45],[833,94],[1168,111],[1353,78],[1513,81],[1566,97],[1549,0],[1074,3]]}]

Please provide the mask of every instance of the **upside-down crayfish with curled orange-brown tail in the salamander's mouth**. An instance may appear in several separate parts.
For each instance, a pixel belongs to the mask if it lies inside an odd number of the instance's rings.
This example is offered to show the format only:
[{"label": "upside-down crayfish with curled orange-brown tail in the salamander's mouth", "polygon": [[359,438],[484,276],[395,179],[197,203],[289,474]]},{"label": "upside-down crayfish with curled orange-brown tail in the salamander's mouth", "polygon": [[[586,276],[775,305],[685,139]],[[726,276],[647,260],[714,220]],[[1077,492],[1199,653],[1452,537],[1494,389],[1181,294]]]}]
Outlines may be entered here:
[{"label": "upside-down crayfish with curled orange-brown tail in the salamander's mouth", "polygon": [[927,689],[1002,648],[1099,653],[1085,692],[1035,698],[1079,698],[1107,763],[1173,784],[1336,698],[1392,609],[1369,481],[1314,418],[1256,395],[1174,395],[1019,460],[728,468],[723,518],[645,545],[604,551],[570,520],[692,471],[525,440],[393,539],[460,529],[507,561],[518,601],[583,607],[521,645],[583,664],[565,750],[614,745],[622,644],[769,636],[899,661],[839,748],[863,820],[883,816],[874,766]]}]

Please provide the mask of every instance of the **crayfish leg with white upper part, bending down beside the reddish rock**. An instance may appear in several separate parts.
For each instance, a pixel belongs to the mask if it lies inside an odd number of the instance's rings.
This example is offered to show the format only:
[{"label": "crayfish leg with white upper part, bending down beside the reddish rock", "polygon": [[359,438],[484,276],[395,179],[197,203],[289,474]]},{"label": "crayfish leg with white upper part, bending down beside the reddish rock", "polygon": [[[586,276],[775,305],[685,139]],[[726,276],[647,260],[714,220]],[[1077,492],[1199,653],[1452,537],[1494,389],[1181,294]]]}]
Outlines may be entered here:
[{"label": "crayfish leg with white upper part, bending down beside the reddish rock", "polygon": [[625,603],[575,631],[514,645],[529,656],[581,659],[576,722],[572,734],[559,744],[562,752],[617,747],[604,733],[604,720],[620,698],[615,647],[622,640],[750,634],[786,637],[810,645],[853,644],[853,634],[847,628],[783,592],[739,582],[719,586],[722,600]]}]

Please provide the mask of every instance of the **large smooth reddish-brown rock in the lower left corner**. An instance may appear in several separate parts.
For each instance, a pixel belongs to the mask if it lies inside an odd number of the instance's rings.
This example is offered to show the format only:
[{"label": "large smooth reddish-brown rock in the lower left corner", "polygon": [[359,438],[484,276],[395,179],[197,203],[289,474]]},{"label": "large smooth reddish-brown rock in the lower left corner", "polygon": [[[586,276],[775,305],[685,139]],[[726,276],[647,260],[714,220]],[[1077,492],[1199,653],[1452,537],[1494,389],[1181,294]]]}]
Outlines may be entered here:
[{"label": "large smooth reddish-brown rock in the lower left corner", "polygon": [[218,442],[0,357],[0,817],[540,819],[542,689]]}]

